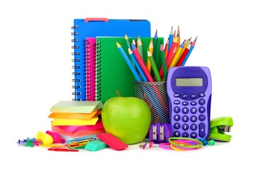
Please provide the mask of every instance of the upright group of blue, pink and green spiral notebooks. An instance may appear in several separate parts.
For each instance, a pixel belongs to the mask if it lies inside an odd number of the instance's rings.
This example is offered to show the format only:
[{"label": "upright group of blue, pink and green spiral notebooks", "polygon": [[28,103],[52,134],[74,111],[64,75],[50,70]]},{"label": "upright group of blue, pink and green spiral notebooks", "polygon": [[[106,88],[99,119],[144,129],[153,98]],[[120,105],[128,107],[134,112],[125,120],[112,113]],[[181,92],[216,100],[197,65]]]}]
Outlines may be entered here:
[{"label": "upright group of blue, pink and green spiral notebooks", "polygon": [[115,40],[121,41],[122,37],[126,47],[124,34],[130,38],[150,38],[150,22],[144,19],[77,18],[72,28],[73,100],[102,101],[104,104],[107,99],[117,96],[116,90],[123,97],[135,96],[134,76],[117,50]]}]

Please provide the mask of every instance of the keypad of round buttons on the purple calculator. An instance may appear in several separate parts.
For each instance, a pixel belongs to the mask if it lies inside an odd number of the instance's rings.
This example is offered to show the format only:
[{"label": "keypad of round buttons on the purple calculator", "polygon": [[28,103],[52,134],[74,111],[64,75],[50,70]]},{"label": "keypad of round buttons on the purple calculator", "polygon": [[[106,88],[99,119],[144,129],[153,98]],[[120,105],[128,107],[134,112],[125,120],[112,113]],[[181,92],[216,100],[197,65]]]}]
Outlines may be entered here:
[{"label": "keypad of round buttons on the purple calculator", "polygon": [[[174,137],[201,138],[206,136],[206,95],[200,94],[174,94],[175,100],[171,103]],[[186,101],[192,98],[193,101]]]}]

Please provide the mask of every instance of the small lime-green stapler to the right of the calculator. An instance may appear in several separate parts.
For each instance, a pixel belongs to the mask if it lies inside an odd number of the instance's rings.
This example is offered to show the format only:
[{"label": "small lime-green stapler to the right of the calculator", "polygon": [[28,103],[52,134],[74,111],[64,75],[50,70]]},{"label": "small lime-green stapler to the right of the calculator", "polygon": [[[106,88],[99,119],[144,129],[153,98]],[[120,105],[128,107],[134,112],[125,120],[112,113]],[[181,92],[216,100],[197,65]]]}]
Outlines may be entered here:
[{"label": "small lime-green stapler to the right of the calculator", "polygon": [[232,126],[233,119],[230,117],[213,118],[210,120],[209,138],[221,142],[230,142],[232,136],[225,134],[225,132],[230,132]]}]

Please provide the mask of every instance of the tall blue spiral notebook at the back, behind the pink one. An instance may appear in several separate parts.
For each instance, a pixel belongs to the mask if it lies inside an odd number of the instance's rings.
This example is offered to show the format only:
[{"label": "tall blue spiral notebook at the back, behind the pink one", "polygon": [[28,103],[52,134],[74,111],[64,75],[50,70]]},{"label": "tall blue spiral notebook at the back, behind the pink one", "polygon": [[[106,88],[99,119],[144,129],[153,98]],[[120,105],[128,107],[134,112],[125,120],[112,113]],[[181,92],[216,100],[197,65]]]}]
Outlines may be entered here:
[{"label": "tall blue spiral notebook at the back, behind the pink one", "polygon": [[97,36],[124,37],[151,37],[151,26],[147,20],[85,18],[74,19],[73,33],[73,101],[86,101],[87,70],[85,39]]}]

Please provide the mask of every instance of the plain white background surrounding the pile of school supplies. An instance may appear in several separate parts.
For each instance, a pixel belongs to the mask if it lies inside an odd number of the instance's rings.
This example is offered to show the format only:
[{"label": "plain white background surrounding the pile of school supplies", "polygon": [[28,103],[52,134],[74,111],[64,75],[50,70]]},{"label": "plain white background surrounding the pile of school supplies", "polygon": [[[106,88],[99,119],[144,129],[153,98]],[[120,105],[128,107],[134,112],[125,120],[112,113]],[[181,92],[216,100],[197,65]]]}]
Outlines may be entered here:
[{"label": "plain white background surrounding the pile of school supplies", "polygon": [[[253,1],[1,1],[0,169],[233,169],[255,159],[255,7]],[[231,142],[192,152],[161,148],[50,152],[18,139],[50,130],[49,109],[71,100],[74,18],[148,19],[166,38],[198,36],[186,65],[210,68],[211,118],[229,116]],[[252,157],[250,156],[252,154]]]}]

